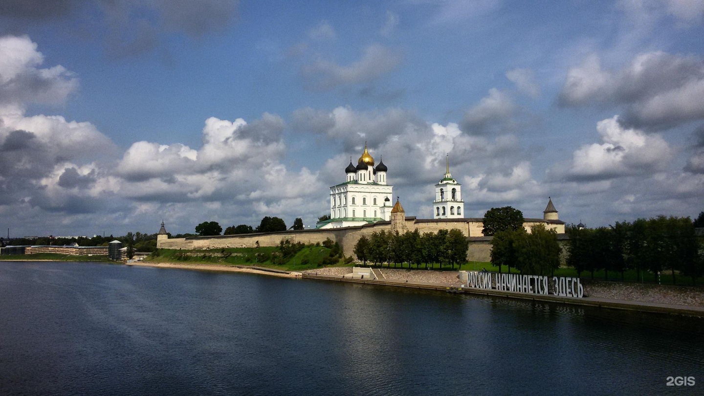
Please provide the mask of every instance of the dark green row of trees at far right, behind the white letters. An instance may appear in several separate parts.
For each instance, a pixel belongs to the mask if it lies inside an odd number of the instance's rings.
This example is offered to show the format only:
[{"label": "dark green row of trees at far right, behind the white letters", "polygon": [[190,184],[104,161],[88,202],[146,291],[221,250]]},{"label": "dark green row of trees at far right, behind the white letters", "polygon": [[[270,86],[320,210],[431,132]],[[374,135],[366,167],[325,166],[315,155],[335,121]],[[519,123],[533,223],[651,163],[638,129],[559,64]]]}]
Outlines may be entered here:
[{"label": "dark green row of trees at far right, behind the white letters", "polygon": [[[700,215],[700,218],[702,216]],[[620,273],[635,270],[638,279],[643,271],[661,273],[672,271],[691,276],[692,283],[704,275],[704,252],[697,240],[695,225],[689,217],[639,218],[629,223],[616,223],[610,227],[582,228],[568,226],[567,265],[578,274],[595,271]]]}]

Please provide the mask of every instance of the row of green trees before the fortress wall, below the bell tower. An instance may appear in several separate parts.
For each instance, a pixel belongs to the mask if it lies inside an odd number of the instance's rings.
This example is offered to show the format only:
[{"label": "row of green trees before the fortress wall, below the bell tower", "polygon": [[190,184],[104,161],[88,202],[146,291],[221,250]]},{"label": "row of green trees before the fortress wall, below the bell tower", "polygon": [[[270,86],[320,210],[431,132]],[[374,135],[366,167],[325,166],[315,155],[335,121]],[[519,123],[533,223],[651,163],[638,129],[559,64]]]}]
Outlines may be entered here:
[{"label": "row of green trees before the fortress wall, below the bell tower", "polygon": [[467,262],[468,248],[467,237],[457,228],[422,235],[418,230],[403,234],[382,230],[375,231],[370,237],[360,237],[354,247],[354,254],[365,265],[367,262],[374,265],[385,263],[390,267],[393,263],[394,268],[397,264],[403,268],[403,264],[408,263],[408,268],[413,264],[416,268],[420,268],[421,264],[425,264],[425,268],[434,264],[440,268],[443,265],[455,268],[455,264],[459,267]]}]

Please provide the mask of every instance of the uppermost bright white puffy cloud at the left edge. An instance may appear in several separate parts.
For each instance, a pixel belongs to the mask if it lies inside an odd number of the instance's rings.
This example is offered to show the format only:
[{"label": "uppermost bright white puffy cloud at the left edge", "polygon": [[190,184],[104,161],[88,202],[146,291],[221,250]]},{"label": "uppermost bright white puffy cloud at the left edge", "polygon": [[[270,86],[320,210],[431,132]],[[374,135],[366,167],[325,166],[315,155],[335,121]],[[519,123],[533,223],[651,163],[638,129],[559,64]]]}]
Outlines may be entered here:
[{"label": "uppermost bright white puffy cloud at the left edge", "polygon": [[0,105],[58,104],[78,80],[62,66],[38,68],[44,56],[29,37],[0,37]]}]

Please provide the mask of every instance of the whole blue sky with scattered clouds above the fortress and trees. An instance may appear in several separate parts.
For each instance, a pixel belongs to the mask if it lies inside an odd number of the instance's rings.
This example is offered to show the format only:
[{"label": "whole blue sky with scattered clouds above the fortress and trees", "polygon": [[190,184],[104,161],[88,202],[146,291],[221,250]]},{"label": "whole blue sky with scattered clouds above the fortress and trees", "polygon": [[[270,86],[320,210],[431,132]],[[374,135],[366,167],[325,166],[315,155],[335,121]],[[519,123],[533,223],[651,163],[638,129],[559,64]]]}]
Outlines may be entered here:
[{"label": "whole blue sky with scattered clouds above the fortress and trees", "polygon": [[[315,227],[365,142],[406,216],[704,211],[704,0],[0,3],[0,227]],[[0,233],[5,234],[5,232]]]}]

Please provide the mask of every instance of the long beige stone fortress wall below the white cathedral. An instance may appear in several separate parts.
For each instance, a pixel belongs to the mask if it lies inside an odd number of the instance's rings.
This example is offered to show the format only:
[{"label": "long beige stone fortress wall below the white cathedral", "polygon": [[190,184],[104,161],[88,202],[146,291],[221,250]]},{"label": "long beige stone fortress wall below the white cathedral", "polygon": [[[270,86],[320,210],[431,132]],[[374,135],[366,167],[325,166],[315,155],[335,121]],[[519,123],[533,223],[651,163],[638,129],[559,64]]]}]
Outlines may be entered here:
[{"label": "long beige stone fortress wall below the white cathedral", "polygon": [[[403,210],[403,209],[401,209]],[[399,215],[403,215],[403,211]],[[467,259],[470,261],[489,261],[491,252],[491,237],[482,234],[482,218],[442,218],[418,219],[406,216],[391,216],[391,221],[378,221],[374,224],[356,225],[344,228],[327,228],[315,230],[279,231],[277,233],[254,233],[241,235],[218,235],[213,237],[170,238],[158,235],[157,247],[164,249],[222,249],[225,247],[257,247],[278,246],[282,240],[293,243],[315,244],[324,242],[327,238],[338,242],[345,256],[353,256],[353,249],[362,235],[370,237],[372,233],[381,230],[404,233],[406,230],[418,230],[422,233],[436,233],[438,230],[457,228],[470,240]],[[558,234],[565,233],[565,223],[542,218],[526,218],[524,227],[530,230],[533,225],[545,224]],[[161,233],[161,231],[160,231]],[[258,245],[257,245],[258,243]]]}]

